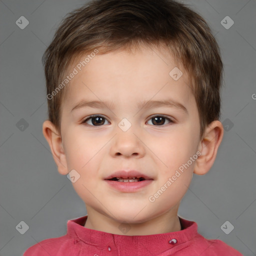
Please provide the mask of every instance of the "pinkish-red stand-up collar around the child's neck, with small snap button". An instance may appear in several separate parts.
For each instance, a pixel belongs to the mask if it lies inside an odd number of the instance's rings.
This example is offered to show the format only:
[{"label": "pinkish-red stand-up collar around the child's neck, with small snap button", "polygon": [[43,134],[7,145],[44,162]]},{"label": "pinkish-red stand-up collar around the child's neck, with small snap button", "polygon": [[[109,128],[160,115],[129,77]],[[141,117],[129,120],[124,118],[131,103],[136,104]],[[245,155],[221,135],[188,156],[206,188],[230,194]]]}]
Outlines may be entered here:
[{"label": "pinkish-red stand-up collar around the child's neck, with small snap button", "polygon": [[67,221],[67,234],[74,238],[74,243],[82,241],[88,245],[96,246],[102,250],[108,249],[112,252],[120,251],[122,247],[134,246],[138,249],[140,246],[141,248],[150,248],[150,252],[153,254],[159,253],[182,243],[185,245],[185,242],[192,240],[197,234],[197,224],[181,217],[179,220],[182,230],[150,235],[120,235],[102,232],[84,227],[86,219],[87,215]]}]

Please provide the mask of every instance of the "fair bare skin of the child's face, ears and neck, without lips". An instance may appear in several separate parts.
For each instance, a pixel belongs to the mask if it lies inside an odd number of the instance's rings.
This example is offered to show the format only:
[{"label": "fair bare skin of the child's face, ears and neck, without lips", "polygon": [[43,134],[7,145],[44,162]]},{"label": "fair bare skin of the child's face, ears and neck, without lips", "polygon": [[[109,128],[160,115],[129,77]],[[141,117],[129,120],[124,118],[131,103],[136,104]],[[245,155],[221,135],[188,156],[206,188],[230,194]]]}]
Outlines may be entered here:
[{"label": "fair bare skin of the child's face, ears and neck, without lips", "polygon": [[[183,72],[176,81],[169,75],[175,66]],[[177,216],[180,200],[192,174],[202,175],[210,169],[223,136],[222,124],[215,120],[200,138],[196,102],[182,66],[174,63],[164,48],[141,46],[96,54],[67,86],[68,97],[61,105],[61,132],[46,120],[43,134],[59,173],[67,175],[75,169],[80,175],[72,185],[86,204],[84,226],[124,234],[119,225],[125,223],[130,228],[126,235],[181,230]],[[166,106],[136,108],[141,100],[169,98],[184,105],[187,112]],[[71,111],[83,99],[112,101],[114,106]],[[87,125],[82,123],[92,114],[104,117],[101,125],[92,119]],[[172,121],[163,119],[157,125],[152,117],[159,120],[159,115]],[[122,118],[131,123],[127,131],[118,127]],[[149,201],[149,196],[197,151],[200,156],[158,198]],[[152,177],[153,182],[128,193],[115,190],[104,180],[116,170],[132,169]]]}]

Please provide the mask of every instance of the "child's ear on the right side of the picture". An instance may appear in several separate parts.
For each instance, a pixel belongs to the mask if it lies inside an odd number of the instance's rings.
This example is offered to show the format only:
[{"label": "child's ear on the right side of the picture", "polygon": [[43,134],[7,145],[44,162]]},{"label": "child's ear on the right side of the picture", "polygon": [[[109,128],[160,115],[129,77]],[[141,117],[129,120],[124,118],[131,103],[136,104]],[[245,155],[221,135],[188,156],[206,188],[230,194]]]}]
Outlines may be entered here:
[{"label": "child's ear on the right side of the picture", "polygon": [[218,120],[212,121],[205,129],[197,150],[201,154],[194,165],[194,173],[203,175],[209,171],[217,155],[218,146],[223,137],[223,126]]}]

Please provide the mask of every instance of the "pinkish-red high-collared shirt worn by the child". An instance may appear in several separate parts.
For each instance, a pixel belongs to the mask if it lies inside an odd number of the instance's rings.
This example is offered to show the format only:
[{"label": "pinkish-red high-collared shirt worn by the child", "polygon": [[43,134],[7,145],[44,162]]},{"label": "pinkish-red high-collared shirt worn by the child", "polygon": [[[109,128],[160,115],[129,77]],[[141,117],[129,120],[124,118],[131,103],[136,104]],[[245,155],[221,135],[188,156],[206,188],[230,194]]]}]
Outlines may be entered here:
[{"label": "pinkish-red high-collared shirt worn by the child", "polygon": [[29,247],[23,256],[242,256],[220,240],[197,233],[197,224],[180,218],[182,230],[150,235],[119,235],[84,227],[87,215],[67,221],[67,233]]}]

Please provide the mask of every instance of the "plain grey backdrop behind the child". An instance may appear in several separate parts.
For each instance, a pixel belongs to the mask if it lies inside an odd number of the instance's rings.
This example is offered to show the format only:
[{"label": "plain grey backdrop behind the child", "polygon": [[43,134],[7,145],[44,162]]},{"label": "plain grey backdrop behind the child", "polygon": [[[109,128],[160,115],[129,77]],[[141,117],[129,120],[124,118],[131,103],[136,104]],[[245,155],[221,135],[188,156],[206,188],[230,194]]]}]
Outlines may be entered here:
[{"label": "plain grey backdrop behind the child", "polygon": [[[22,255],[38,241],[64,235],[68,219],[86,214],[71,182],[58,174],[41,127],[47,118],[41,56],[62,17],[84,2],[0,0],[1,256]],[[256,2],[184,3],[206,19],[221,48],[226,130],[212,169],[194,175],[179,215],[196,221],[204,237],[256,255]],[[29,21],[24,29],[15,23],[21,15]],[[234,21],[229,29],[220,23],[227,15]],[[15,228],[22,220],[29,226],[24,234]],[[229,234],[220,228],[226,220],[234,226]]]}]

